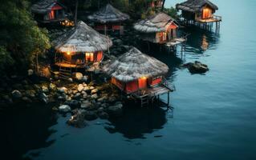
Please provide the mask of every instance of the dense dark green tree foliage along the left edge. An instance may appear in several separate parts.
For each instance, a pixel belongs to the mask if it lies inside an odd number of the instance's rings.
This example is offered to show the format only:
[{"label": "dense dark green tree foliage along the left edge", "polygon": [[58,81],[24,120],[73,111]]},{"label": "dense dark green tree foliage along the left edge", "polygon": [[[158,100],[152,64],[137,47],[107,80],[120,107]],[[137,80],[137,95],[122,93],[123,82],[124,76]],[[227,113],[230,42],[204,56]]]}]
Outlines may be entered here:
[{"label": "dense dark green tree foliage along the left edge", "polygon": [[1,69],[24,70],[51,47],[47,30],[37,26],[28,7],[26,0],[3,1],[0,6]]}]

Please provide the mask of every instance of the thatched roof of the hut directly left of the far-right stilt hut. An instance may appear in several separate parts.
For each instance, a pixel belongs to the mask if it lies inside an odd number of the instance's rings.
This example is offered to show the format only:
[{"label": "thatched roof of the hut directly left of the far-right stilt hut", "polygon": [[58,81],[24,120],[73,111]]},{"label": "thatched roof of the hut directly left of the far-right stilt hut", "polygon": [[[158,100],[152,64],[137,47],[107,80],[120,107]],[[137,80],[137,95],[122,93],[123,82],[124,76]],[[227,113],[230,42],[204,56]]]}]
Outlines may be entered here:
[{"label": "thatched roof of the hut directly left of the far-right stilt hut", "polygon": [[143,33],[154,33],[165,31],[166,27],[175,23],[175,19],[170,17],[168,14],[160,12],[147,19],[136,22],[134,29]]}]

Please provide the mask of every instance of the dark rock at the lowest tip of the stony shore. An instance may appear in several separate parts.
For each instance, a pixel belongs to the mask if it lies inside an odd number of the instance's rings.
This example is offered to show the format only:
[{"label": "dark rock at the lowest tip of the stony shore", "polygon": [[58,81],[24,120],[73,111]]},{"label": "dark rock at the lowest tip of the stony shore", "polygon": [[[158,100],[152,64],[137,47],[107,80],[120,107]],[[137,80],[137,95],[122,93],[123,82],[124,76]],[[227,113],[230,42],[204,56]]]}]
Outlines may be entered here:
[{"label": "dark rock at the lowest tip of the stony shore", "polygon": [[67,124],[77,128],[87,126],[87,123],[84,121],[84,110],[75,110],[74,115],[67,121]]}]

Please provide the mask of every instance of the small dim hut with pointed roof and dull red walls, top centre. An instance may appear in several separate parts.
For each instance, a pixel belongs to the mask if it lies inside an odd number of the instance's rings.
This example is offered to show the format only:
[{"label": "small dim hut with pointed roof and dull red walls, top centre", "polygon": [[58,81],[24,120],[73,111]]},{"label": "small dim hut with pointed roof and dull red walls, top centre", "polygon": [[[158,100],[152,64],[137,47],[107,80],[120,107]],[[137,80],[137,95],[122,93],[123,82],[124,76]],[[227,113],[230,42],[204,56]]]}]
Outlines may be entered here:
[{"label": "small dim hut with pointed roof and dull red walls, top centre", "polygon": [[88,19],[95,22],[95,30],[119,30],[120,33],[124,30],[122,23],[129,18],[128,14],[122,13],[110,4],[88,16]]}]

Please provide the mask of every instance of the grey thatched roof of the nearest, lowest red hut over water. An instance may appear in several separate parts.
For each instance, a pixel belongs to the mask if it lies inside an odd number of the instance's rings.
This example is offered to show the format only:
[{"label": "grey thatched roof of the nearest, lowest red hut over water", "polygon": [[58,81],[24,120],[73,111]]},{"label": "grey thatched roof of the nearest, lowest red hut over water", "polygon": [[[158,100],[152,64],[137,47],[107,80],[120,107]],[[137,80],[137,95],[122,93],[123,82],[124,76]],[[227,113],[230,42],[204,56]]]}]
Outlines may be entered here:
[{"label": "grey thatched roof of the nearest, lowest red hut over water", "polygon": [[121,82],[131,82],[141,77],[167,74],[169,67],[133,47],[114,62],[105,65],[103,70]]}]

